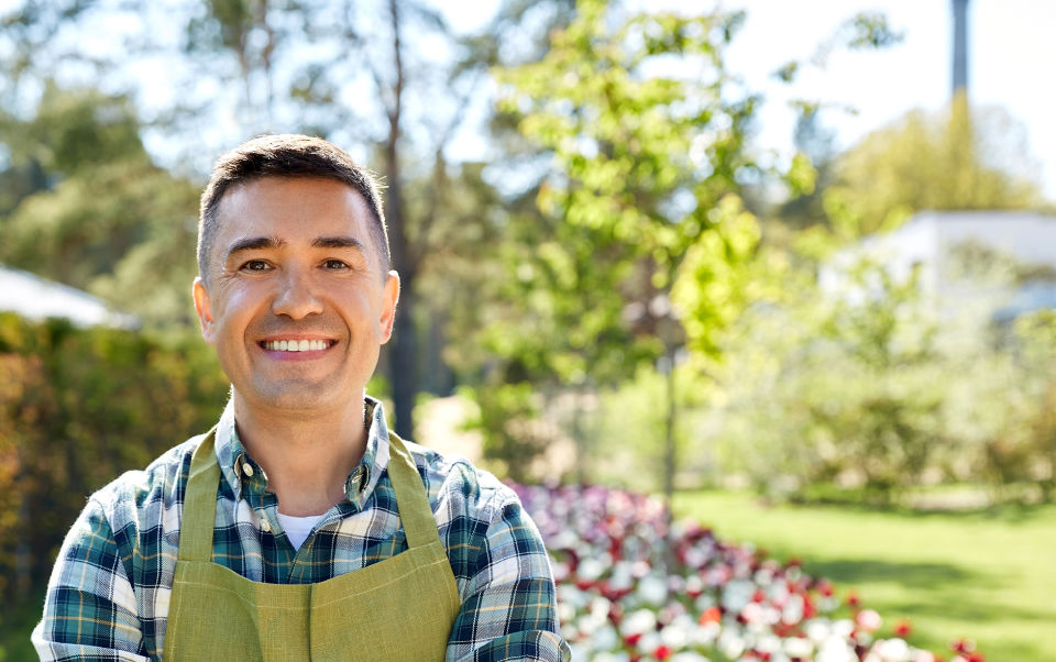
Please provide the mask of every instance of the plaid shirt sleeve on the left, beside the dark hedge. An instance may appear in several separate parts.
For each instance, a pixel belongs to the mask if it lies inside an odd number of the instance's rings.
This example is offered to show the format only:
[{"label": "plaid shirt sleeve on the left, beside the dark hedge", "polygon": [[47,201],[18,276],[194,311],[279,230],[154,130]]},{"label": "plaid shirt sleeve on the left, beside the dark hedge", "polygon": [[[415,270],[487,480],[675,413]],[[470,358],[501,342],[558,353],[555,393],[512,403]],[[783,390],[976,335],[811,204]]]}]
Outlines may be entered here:
[{"label": "plaid shirt sleeve on the left, beside the dark hedge", "polygon": [[135,605],[113,529],[92,499],[58,553],[33,646],[41,660],[147,660]]}]

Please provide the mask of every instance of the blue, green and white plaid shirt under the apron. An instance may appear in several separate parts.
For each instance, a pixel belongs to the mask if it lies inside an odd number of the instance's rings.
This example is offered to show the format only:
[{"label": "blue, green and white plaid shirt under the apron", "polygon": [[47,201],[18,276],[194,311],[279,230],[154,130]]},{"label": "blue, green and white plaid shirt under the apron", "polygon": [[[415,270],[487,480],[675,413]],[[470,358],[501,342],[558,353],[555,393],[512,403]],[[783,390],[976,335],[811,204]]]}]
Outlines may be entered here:
[{"label": "blue, green and white plaid shirt under the apron", "polygon": [[[346,498],[295,551],[263,470],[239,441],[229,404],[217,429],[222,479],[213,562],[254,582],[310,584],[406,550],[386,471],[385,416],[370,398],[366,410],[366,452],[345,482]],[[145,471],[122,475],[88,500],[59,552],[44,618],[33,631],[43,660],[161,658],[184,490],[199,440],[176,446]],[[516,495],[463,459],[407,446],[462,600],[447,659],[568,660],[568,644],[557,633],[546,550]]]}]

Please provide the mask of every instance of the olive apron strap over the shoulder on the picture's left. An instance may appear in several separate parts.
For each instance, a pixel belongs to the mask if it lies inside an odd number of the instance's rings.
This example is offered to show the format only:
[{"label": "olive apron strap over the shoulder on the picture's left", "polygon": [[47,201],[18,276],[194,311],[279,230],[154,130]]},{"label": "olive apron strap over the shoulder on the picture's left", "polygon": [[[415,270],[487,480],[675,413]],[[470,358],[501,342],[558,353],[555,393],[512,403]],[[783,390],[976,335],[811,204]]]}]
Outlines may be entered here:
[{"label": "olive apron strap over the shoulder on the picture's left", "polygon": [[212,527],[217,521],[220,465],[215,450],[217,429],[209,430],[190,459],[190,476],[179,525],[179,561],[212,560]]}]

